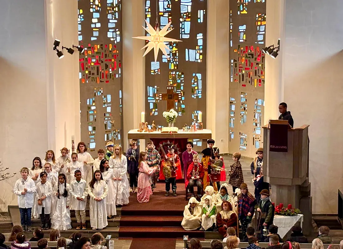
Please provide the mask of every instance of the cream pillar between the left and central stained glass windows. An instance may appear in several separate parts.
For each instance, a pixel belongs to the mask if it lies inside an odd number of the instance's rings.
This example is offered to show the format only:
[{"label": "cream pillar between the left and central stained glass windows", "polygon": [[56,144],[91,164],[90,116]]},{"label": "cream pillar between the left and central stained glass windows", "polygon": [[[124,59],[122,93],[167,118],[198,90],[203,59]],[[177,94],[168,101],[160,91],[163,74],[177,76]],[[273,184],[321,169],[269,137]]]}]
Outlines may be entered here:
[{"label": "cream pillar between the left and central stained glass windows", "polygon": [[[131,129],[138,129],[141,112],[145,111],[145,57],[144,40],[133,39],[133,36],[144,36],[142,28],[145,18],[144,0],[125,0],[122,7],[123,18],[123,115],[122,130],[124,145],[128,148],[127,133]],[[145,148],[141,141],[141,151]]]}]

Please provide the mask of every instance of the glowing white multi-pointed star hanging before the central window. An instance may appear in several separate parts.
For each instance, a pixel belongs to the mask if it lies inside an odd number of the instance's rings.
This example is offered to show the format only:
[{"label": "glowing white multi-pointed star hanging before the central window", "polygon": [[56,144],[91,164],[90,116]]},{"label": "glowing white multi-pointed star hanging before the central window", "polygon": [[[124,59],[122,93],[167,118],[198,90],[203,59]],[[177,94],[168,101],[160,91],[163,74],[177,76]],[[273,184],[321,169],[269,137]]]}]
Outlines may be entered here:
[{"label": "glowing white multi-pointed star hanging before the central window", "polygon": [[147,33],[150,34],[150,36],[136,36],[136,37],[132,37],[132,38],[136,38],[136,39],[141,39],[141,40],[148,40],[149,42],[142,48],[147,48],[143,54],[143,57],[149,53],[152,49],[154,49],[154,55],[155,55],[155,62],[157,60],[157,55],[158,55],[158,49],[161,49],[162,53],[168,58],[168,54],[167,54],[167,50],[170,51],[170,49],[164,44],[164,42],[170,42],[170,41],[181,41],[181,40],[176,40],[173,38],[168,38],[168,37],[164,37],[165,35],[167,35],[171,30],[173,30],[174,28],[171,28],[169,30],[167,30],[171,24],[171,22],[169,22],[166,26],[164,26],[164,28],[162,28],[161,30],[159,30],[159,27],[157,27],[156,29],[154,29],[149,22],[146,22],[146,25],[148,26],[148,29],[146,29],[144,26],[142,26]]}]

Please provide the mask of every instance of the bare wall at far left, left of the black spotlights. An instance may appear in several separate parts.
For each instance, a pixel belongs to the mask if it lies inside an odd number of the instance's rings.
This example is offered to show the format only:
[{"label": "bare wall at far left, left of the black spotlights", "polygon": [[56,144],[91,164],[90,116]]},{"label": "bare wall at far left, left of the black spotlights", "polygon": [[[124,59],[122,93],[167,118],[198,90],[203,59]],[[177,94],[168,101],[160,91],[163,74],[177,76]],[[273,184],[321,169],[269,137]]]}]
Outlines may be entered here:
[{"label": "bare wall at far left, left of the black spotlights", "polygon": [[0,160],[17,175],[0,182],[0,211],[17,204],[19,170],[47,148],[44,1],[1,1]]}]

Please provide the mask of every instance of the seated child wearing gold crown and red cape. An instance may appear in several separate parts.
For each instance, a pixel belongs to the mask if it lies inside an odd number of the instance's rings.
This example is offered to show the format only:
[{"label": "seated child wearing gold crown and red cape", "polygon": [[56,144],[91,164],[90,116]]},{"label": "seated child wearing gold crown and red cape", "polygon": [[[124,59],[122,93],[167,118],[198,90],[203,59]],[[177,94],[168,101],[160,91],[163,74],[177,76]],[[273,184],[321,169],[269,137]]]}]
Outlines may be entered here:
[{"label": "seated child wearing gold crown and red cape", "polygon": [[187,176],[185,179],[185,188],[189,188],[189,192],[194,197],[194,186],[197,186],[196,198],[201,198],[202,191],[202,178],[204,177],[204,168],[199,163],[199,155],[193,154],[193,162],[189,165],[187,170]]}]

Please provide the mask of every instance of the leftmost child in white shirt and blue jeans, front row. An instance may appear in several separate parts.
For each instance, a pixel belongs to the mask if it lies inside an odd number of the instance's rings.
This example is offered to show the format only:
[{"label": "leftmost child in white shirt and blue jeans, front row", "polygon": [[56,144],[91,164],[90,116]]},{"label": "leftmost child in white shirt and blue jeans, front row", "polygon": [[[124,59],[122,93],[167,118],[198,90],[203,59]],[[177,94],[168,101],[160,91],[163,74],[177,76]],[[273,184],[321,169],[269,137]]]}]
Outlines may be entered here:
[{"label": "leftmost child in white shirt and blue jeans, front row", "polygon": [[33,207],[36,185],[30,177],[27,177],[28,169],[26,167],[23,167],[20,170],[20,174],[22,177],[15,182],[13,191],[14,194],[18,196],[20,223],[23,231],[25,231],[25,227],[27,231],[32,231],[31,210]]}]

